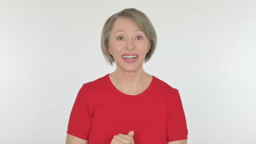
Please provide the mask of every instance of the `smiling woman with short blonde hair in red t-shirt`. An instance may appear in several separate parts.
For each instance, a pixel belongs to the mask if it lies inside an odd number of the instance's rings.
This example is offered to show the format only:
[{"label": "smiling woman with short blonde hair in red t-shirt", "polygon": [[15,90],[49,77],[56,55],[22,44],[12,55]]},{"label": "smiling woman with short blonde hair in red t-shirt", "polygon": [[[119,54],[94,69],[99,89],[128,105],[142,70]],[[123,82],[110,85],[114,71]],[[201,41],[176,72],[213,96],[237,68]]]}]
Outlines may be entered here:
[{"label": "smiling woman with short blonde hair in red t-shirt", "polygon": [[73,105],[66,144],[187,144],[177,89],[143,70],[157,36],[134,8],[108,18],[101,48],[114,72],[82,85]]}]

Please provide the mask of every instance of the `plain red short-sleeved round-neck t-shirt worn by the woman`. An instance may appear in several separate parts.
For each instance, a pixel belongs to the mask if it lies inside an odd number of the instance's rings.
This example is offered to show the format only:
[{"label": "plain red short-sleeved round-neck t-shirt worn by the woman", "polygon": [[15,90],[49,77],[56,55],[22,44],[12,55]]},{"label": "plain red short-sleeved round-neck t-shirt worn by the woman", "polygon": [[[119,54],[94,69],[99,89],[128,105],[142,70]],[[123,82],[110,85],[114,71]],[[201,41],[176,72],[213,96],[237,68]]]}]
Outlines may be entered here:
[{"label": "plain red short-sleeved round-neck t-shirt worn by the woman", "polygon": [[127,95],[109,74],[82,85],[73,105],[67,134],[110,144],[114,135],[134,131],[135,144],[166,144],[187,139],[187,122],[179,91],[153,75],[148,88]]}]

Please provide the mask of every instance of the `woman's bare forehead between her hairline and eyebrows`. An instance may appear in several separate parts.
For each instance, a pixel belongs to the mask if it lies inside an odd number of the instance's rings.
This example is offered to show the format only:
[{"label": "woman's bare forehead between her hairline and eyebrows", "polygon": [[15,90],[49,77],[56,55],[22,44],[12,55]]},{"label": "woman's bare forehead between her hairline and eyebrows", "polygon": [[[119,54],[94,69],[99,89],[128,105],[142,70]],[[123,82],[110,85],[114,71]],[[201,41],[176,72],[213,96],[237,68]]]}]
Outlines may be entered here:
[{"label": "woman's bare forehead between her hairline and eyebrows", "polygon": [[124,29],[140,29],[140,28],[135,23],[135,21],[128,19],[128,18],[119,17],[115,20],[113,29],[124,30]]}]

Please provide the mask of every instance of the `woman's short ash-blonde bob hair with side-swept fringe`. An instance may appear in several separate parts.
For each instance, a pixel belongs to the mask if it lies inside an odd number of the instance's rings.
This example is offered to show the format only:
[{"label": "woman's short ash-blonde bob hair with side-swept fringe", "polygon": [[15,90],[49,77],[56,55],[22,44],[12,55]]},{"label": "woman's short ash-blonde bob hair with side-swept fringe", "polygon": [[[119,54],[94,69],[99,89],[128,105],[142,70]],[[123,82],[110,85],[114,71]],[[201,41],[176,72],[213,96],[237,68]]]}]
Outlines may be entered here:
[{"label": "woman's short ash-blonde bob hair with side-swept fringe", "polygon": [[115,62],[113,56],[108,53],[107,48],[108,48],[110,32],[112,30],[115,20],[119,17],[133,20],[149,39],[151,43],[151,47],[144,59],[144,62],[147,62],[151,58],[151,56],[153,55],[156,49],[157,34],[154,30],[154,26],[152,25],[151,21],[148,19],[148,16],[146,16],[143,12],[135,8],[121,10],[120,12],[115,13],[114,15],[110,16],[108,20],[106,20],[102,29],[102,36],[101,36],[101,49],[102,49],[102,54],[104,55],[106,61],[112,66],[113,66],[113,63]]}]

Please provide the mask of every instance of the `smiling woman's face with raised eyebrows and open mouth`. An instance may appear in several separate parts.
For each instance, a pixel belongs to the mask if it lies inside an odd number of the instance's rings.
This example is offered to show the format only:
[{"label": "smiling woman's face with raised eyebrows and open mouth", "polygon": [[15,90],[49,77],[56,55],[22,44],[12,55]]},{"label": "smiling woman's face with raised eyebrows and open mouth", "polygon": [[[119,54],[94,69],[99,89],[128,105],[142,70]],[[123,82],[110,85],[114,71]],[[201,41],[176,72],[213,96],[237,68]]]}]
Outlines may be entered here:
[{"label": "smiling woman's face with raised eyebrows and open mouth", "polygon": [[134,21],[127,18],[115,20],[109,36],[108,52],[115,59],[117,69],[128,72],[143,69],[150,46],[149,39]]}]

